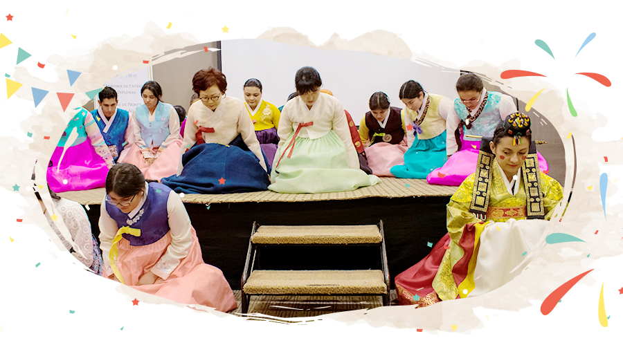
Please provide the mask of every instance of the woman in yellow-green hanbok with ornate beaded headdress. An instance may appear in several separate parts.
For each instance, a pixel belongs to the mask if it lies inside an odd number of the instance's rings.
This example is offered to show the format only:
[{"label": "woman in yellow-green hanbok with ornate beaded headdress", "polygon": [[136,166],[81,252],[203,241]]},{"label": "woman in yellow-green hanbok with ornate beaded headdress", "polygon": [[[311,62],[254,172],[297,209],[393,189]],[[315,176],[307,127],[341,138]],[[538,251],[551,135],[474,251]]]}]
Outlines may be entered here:
[{"label": "woman in yellow-green hanbok with ornate beaded headdress", "polygon": [[476,172],[451,197],[448,234],[395,278],[399,303],[475,297],[511,281],[562,197],[558,181],[539,170],[530,118],[508,115],[482,139]]}]

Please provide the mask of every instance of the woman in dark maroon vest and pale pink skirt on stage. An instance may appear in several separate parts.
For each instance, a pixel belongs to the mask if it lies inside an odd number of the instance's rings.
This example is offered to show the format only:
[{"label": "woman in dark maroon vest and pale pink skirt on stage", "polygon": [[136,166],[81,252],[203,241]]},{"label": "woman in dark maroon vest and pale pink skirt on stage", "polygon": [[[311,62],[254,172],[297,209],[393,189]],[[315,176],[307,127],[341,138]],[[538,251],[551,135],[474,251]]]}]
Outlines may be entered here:
[{"label": "woman in dark maroon vest and pale pink skirt on stage", "polygon": [[386,93],[375,92],[370,97],[370,111],[359,124],[359,137],[366,146],[368,166],[376,176],[394,177],[390,169],[394,165],[404,165],[404,153],[408,147],[401,110],[390,106]]}]

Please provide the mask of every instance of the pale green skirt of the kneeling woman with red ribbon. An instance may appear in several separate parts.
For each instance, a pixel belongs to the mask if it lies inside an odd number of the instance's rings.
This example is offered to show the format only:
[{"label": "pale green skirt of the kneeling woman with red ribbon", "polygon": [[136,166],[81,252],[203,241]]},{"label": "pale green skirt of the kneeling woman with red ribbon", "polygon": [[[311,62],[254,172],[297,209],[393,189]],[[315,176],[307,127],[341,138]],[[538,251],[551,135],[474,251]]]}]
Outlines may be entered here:
[{"label": "pale green skirt of the kneeling woman with red ribbon", "polygon": [[[376,185],[381,179],[365,174],[361,169],[350,169],[346,160],[344,142],[331,130],[322,138],[296,138],[292,156],[288,158],[294,132],[275,154],[269,189],[278,193],[345,192],[359,187]],[[279,165],[277,163],[279,162]]]}]

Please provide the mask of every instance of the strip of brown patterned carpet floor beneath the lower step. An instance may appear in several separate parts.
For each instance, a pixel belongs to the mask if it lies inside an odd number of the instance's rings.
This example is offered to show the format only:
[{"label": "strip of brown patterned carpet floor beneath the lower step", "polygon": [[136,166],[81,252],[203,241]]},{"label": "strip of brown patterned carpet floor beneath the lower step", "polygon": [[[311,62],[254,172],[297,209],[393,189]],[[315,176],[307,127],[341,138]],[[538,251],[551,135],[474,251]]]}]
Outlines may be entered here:
[{"label": "strip of brown patterned carpet floor beneath the lower step", "polygon": [[[233,290],[238,308],[229,314],[242,313],[240,290]],[[398,305],[396,291],[391,290],[392,306]],[[272,317],[315,317],[355,309],[372,309],[383,306],[379,296],[253,296],[249,314],[260,313]]]}]

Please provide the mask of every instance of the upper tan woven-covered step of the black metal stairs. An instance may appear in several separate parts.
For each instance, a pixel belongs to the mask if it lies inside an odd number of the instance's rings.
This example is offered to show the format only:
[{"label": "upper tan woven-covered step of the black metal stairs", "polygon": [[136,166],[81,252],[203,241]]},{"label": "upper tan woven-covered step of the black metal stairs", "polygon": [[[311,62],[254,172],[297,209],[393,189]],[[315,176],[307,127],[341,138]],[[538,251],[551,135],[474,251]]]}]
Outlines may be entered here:
[{"label": "upper tan woven-covered step of the black metal stairs", "polygon": [[256,244],[361,244],[381,243],[377,225],[260,226]]}]

